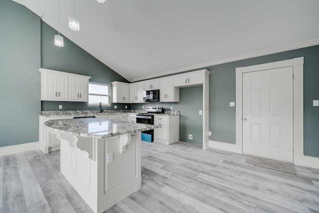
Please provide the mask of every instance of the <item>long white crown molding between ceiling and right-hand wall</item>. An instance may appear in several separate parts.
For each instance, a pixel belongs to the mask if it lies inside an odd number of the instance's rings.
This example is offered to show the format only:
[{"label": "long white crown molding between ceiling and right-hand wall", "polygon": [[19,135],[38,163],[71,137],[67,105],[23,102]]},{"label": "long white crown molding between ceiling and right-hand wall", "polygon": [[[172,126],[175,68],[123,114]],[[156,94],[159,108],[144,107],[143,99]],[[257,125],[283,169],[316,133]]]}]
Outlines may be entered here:
[{"label": "long white crown molding between ceiling and right-hand wall", "polygon": [[170,75],[170,74],[175,74],[178,72],[189,71],[189,70],[193,70],[193,69],[200,69],[200,68],[205,68],[205,67],[223,64],[223,63],[228,63],[228,62],[239,61],[239,60],[244,60],[244,59],[248,59],[248,58],[254,58],[254,57],[259,57],[259,56],[263,56],[263,55],[269,55],[269,54],[274,54],[274,53],[278,53],[278,52],[294,50],[294,49],[300,49],[300,48],[305,48],[305,47],[309,47],[309,46],[315,46],[318,44],[319,44],[319,39],[316,39],[316,40],[301,42],[301,43],[297,43],[297,44],[287,45],[287,46],[283,46],[283,47],[278,47],[278,48],[274,48],[274,49],[269,49],[269,50],[239,55],[239,56],[235,56],[235,57],[225,58],[225,59],[221,59],[221,60],[217,60],[217,61],[211,61],[211,62],[197,64],[197,65],[193,65],[193,66],[187,66],[187,67],[180,68],[180,69],[174,69],[174,70],[170,70],[170,71],[166,71],[166,72],[161,72],[158,74],[148,75],[148,76],[144,76],[144,77],[140,77],[140,78],[132,78],[132,79],[128,79],[128,80],[130,82],[141,81],[141,80],[145,80],[145,79],[156,78],[156,77],[163,76],[163,75]]}]

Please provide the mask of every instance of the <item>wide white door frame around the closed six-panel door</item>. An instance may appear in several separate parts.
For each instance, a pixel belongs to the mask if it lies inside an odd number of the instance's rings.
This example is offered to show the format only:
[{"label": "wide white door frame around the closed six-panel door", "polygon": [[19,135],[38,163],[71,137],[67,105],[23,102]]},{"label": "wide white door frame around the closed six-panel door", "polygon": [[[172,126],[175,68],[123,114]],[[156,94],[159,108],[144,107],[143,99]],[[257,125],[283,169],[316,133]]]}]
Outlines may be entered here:
[{"label": "wide white door frame around the closed six-panel door", "polygon": [[243,153],[243,73],[293,67],[293,161],[304,165],[304,57],[236,68],[236,152]]}]

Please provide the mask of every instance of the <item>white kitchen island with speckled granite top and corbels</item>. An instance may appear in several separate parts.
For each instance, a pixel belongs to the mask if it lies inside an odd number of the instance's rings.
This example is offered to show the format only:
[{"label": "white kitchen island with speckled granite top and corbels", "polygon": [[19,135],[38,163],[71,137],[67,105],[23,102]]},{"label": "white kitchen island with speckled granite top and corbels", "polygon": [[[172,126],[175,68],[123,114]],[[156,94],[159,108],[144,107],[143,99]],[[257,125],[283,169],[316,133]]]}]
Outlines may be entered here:
[{"label": "white kitchen island with speckled granite top and corbels", "polygon": [[49,120],[61,173],[95,213],[141,188],[141,132],[157,126],[97,118]]}]

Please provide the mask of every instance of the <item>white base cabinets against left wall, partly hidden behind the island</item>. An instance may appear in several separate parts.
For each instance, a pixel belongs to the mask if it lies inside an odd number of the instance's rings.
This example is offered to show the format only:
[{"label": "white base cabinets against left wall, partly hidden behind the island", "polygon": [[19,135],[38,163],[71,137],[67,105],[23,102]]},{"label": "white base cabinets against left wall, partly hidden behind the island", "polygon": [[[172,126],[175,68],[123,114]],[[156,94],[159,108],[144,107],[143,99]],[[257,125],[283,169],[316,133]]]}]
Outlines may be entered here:
[{"label": "white base cabinets against left wall, partly hidden behind the island", "polygon": [[44,123],[48,120],[57,120],[57,119],[72,119],[72,116],[51,116],[45,117],[39,116],[39,142],[40,149],[44,153],[60,149],[60,141],[56,138],[55,134],[52,134],[44,126]]}]

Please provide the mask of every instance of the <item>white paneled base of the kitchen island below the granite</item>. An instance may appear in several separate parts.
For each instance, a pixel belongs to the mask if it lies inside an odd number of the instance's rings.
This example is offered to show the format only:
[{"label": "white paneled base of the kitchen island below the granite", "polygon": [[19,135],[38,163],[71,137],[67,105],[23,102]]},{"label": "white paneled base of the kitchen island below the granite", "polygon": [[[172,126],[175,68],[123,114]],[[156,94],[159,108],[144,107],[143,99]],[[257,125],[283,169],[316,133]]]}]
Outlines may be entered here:
[{"label": "white paneled base of the kitchen island below the granite", "polygon": [[[58,134],[61,173],[94,213],[141,188],[141,132],[105,139]],[[109,155],[113,155],[112,159]]]}]

